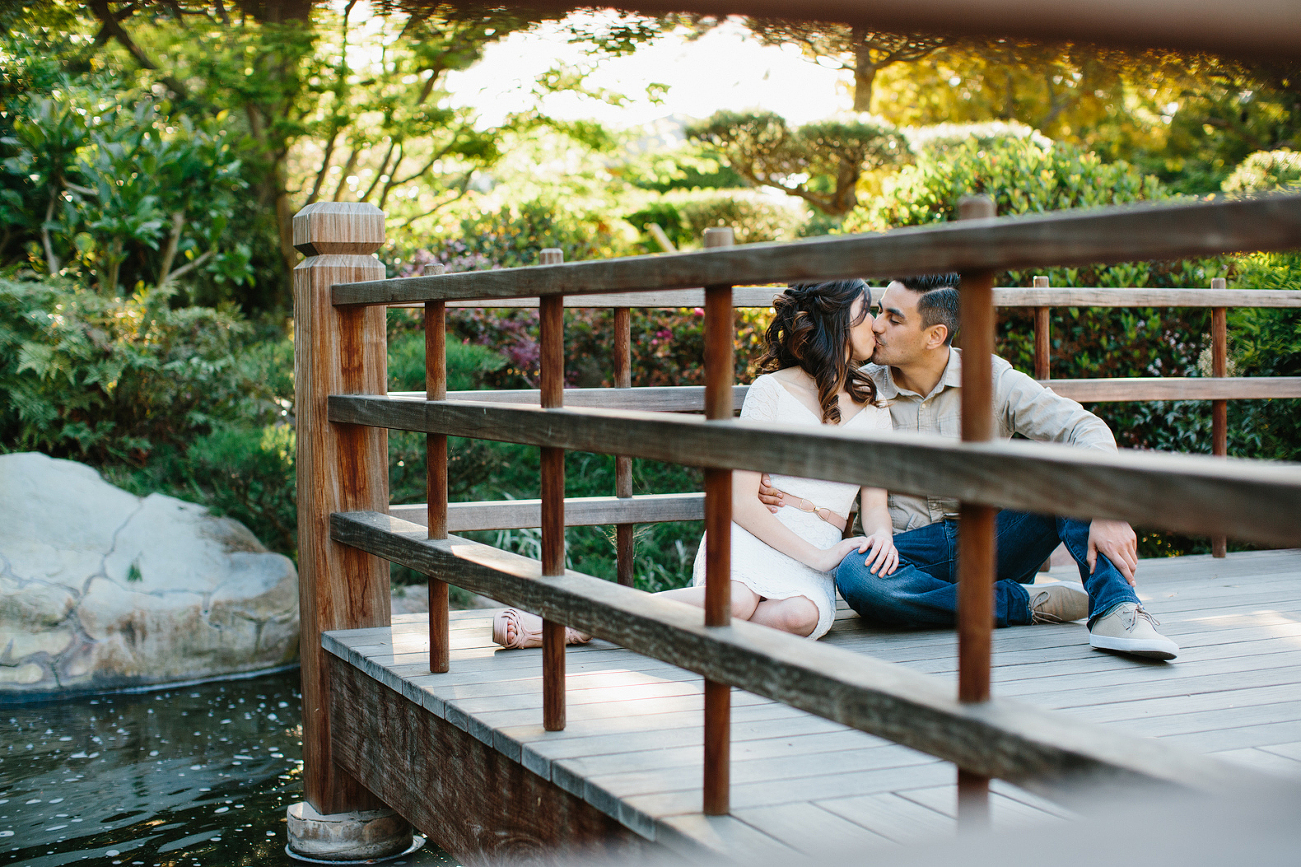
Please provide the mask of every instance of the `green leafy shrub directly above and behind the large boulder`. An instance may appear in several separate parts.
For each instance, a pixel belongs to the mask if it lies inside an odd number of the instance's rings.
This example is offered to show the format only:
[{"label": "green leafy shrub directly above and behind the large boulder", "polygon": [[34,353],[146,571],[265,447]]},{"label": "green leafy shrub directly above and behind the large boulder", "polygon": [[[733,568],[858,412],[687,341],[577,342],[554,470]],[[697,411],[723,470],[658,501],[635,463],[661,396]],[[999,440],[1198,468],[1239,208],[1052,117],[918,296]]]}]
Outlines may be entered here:
[{"label": "green leafy shrub directly above and behind the large boulder", "polygon": [[219,423],[269,420],[276,402],[238,315],[62,282],[0,280],[0,439],[78,460],[147,460]]}]

